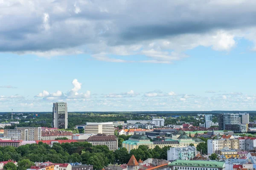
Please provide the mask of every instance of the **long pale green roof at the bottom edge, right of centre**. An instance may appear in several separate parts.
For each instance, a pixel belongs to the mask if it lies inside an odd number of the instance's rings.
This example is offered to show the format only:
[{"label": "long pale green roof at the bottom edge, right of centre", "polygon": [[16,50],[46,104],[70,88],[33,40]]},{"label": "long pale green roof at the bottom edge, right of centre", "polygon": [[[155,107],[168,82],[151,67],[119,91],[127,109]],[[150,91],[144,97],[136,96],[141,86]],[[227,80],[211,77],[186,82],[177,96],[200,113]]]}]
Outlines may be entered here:
[{"label": "long pale green roof at the bottom edge, right of centre", "polygon": [[222,161],[189,161],[189,160],[176,160],[169,164],[169,166],[189,166],[189,167],[212,167],[224,168],[225,162]]}]

